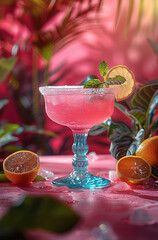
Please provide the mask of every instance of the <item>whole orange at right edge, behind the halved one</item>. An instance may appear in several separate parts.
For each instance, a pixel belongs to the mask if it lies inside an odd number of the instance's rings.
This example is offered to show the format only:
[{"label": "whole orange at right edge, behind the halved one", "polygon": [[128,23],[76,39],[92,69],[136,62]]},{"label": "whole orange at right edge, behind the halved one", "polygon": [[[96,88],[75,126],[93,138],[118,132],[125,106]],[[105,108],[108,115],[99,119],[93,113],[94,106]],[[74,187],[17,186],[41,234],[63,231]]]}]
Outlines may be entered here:
[{"label": "whole orange at right edge, behind the halved one", "polygon": [[[158,136],[145,139],[135,154],[144,158],[158,171]],[[153,175],[158,178],[155,174]]]}]

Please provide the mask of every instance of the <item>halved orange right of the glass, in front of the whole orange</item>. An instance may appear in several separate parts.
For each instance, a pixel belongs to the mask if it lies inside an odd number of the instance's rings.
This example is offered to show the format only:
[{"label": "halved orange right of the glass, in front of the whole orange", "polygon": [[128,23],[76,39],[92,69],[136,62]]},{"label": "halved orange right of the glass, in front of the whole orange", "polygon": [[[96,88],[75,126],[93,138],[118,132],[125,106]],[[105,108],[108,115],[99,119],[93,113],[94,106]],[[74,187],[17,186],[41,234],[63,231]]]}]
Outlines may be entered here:
[{"label": "halved orange right of the glass, in front of the whole orange", "polygon": [[116,165],[118,177],[128,184],[141,184],[151,176],[151,166],[143,158],[125,156]]}]

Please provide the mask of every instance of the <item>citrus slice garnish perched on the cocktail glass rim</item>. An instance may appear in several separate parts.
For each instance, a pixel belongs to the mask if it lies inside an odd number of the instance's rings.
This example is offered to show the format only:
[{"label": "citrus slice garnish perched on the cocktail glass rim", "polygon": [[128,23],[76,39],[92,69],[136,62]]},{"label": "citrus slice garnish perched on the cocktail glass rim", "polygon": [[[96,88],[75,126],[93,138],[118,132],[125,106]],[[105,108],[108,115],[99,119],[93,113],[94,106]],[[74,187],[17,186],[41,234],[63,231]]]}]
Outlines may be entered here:
[{"label": "citrus slice garnish perched on the cocktail glass rim", "polygon": [[[126,81],[119,85],[120,90],[118,91],[118,93],[116,94],[116,101],[123,101],[125,99],[127,99],[128,97],[130,97],[132,95],[132,93],[134,92],[135,89],[135,77],[133,72],[128,69],[126,66],[123,65],[118,65],[118,66],[114,66],[112,67],[107,76],[107,78],[113,78],[117,75],[120,75],[122,77],[124,77],[126,79]],[[116,85],[109,85],[109,87],[116,87]]]}]

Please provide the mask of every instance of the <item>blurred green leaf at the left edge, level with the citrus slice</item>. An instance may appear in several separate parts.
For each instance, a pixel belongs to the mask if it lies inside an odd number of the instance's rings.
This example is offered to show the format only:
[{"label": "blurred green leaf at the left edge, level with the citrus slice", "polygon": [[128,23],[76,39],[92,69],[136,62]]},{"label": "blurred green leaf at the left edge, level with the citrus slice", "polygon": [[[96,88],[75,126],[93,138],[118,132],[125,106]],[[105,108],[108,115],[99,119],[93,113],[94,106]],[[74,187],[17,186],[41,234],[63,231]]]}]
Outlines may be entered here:
[{"label": "blurred green leaf at the left edge, level with the citrus slice", "polygon": [[4,81],[8,74],[13,70],[17,58],[2,58],[0,60],[0,82]]}]

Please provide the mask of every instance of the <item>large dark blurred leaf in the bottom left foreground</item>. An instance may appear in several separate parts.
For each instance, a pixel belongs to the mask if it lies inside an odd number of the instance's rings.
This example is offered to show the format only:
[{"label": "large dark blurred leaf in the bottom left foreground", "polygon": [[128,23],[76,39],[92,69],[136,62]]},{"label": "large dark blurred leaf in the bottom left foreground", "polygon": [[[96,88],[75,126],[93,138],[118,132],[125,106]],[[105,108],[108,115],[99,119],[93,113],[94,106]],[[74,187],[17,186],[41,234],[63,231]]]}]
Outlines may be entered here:
[{"label": "large dark blurred leaf in the bottom left foreground", "polygon": [[0,230],[23,232],[41,229],[62,233],[78,221],[77,213],[51,196],[26,196],[1,218]]}]

